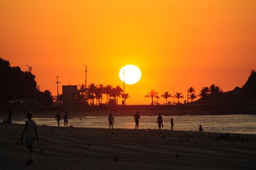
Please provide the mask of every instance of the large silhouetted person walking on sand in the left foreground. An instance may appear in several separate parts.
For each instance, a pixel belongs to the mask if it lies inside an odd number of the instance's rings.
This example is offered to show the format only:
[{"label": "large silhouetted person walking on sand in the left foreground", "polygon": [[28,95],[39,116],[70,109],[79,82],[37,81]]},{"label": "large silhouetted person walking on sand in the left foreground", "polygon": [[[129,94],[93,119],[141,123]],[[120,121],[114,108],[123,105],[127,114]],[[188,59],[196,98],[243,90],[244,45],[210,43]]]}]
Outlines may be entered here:
[{"label": "large silhouetted person walking on sand in the left foreground", "polygon": [[25,146],[27,147],[27,149],[29,149],[30,157],[31,157],[32,162],[33,162],[33,160],[34,160],[33,145],[35,144],[35,139],[37,139],[37,141],[39,141],[39,138],[38,138],[36,122],[34,120],[31,120],[31,118],[32,118],[32,114],[28,114],[27,115],[28,120],[25,123],[25,128],[24,128],[24,130],[22,132],[22,135],[20,137],[20,141],[23,139],[24,133],[26,132]]}]

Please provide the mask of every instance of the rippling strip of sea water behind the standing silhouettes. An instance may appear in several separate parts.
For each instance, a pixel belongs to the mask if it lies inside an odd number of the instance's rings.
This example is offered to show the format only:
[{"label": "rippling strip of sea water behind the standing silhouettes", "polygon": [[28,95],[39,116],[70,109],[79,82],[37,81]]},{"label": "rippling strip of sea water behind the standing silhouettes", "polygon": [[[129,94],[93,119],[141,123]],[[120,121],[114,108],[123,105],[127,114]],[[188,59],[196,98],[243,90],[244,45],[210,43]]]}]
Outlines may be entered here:
[{"label": "rippling strip of sea water behind the standing silhouettes", "polygon": [[[174,120],[174,130],[198,131],[198,126],[202,125],[204,131],[220,133],[241,133],[256,134],[256,115],[207,115],[207,116],[162,116],[163,128],[171,129],[170,120]],[[114,128],[134,129],[135,121],[133,117],[117,116],[114,117]],[[57,126],[55,119],[34,118],[37,125]],[[13,121],[14,123],[24,124],[26,119]],[[75,117],[69,119],[68,125],[85,128],[109,128],[108,117]],[[64,126],[63,120],[60,126]],[[139,129],[158,129],[157,116],[141,116]]]}]

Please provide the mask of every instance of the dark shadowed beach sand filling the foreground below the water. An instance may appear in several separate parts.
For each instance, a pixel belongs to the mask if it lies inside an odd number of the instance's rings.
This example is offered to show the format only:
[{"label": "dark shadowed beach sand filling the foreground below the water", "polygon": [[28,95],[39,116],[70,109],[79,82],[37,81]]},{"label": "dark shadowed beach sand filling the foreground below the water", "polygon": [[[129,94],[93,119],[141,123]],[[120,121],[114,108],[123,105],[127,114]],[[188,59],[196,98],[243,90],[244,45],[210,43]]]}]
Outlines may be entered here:
[{"label": "dark shadowed beach sand filling the foreground below the water", "polygon": [[16,144],[23,126],[0,124],[1,170],[256,169],[256,135],[227,141],[207,132],[47,126],[38,126],[36,161],[25,166],[29,152]]}]

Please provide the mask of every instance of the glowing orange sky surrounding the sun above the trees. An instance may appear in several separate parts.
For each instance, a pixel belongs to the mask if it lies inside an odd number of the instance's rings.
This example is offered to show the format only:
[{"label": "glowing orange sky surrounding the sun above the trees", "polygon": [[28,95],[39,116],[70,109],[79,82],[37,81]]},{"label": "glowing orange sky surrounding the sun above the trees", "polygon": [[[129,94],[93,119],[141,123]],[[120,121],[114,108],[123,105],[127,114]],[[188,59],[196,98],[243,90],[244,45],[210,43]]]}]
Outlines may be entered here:
[{"label": "glowing orange sky surrounding the sun above the trees", "polygon": [[119,69],[137,65],[127,104],[149,104],[151,89],[228,91],[256,69],[256,0],[0,0],[0,57],[32,66],[54,95],[57,75],[84,83],[84,64],[88,83],[104,85],[122,85]]}]

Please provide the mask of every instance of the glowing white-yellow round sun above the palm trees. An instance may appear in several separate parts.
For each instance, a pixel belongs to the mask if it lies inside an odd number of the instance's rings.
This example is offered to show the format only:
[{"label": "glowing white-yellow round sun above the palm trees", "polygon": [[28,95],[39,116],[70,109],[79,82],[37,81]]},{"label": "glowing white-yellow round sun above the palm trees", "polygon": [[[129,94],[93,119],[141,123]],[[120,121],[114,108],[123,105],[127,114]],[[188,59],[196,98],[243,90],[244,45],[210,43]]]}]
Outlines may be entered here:
[{"label": "glowing white-yellow round sun above the palm trees", "polygon": [[133,85],[136,84],[141,78],[141,71],[135,65],[126,65],[119,71],[119,78],[125,84]]}]

